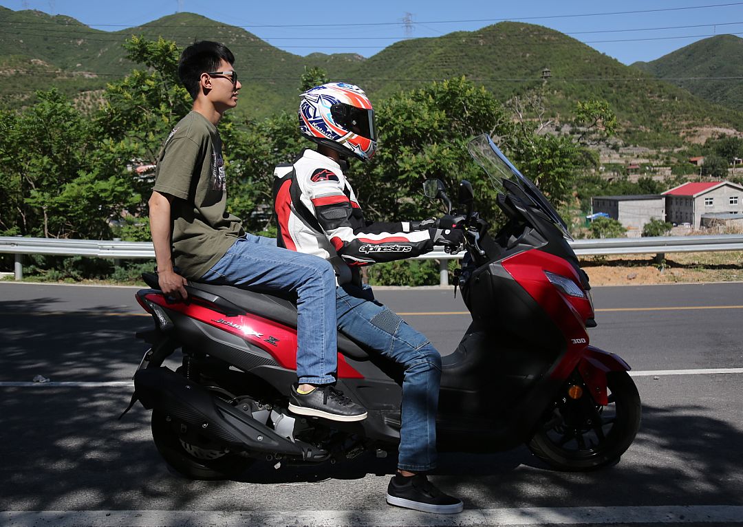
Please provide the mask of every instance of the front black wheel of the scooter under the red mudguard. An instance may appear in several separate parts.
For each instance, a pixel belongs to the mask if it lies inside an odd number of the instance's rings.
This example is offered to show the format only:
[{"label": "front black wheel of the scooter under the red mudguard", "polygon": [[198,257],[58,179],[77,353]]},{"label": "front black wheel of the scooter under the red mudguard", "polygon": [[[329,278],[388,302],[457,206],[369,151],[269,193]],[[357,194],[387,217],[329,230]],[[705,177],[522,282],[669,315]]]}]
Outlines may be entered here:
[{"label": "front black wheel of the scooter under the red mudguard", "polygon": [[640,394],[627,372],[609,372],[606,379],[606,406],[596,404],[588,390],[577,401],[556,401],[528,444],[536,457],[559,471],[591,471],[619,462],[640,429]]}]

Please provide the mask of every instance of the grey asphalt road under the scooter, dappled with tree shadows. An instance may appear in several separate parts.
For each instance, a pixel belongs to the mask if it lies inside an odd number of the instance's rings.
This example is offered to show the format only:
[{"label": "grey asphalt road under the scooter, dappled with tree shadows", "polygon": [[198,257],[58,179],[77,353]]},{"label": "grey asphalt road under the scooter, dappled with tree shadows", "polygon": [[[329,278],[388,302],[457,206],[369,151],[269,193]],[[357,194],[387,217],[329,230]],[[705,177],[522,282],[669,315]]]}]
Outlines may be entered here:
[{"label": "grey asphalt road under the scooter, dappled with tree shadows", "polygon": [[[707,525],[743,525],[743,371],[709,372],[743,368],[743,284],[596,288],[599,326],[591,329],[591,343],[639,372],[640,434],[618,465],[592,473],[548,471],[525,447],[442,456],[435,482],[461,496],[466,511],[517,513],[498,522],[485,514],[481,523],[466,514],[395,516],[399,509],[383,502],[392,459],[280,470],[256,465],[230,482],[181,479],[152,444],[149,413],[137,407],[116,419],[128,387],[8,386],[34,375],[131,378],[144,351],[133,334],[150,323],[140,316],[134,291],[0,283],[0,525],[181,525],[181,517],[195,525],[234,525],[239,518],[255,523],[250,514],[261,511],[273,511],[265,525],[541,525],[558,523],[544,520],[552,518],[540,516],[544,511],[563,510],[562,523],[573,524],[603,524],[616,512],[617,524],[701,523],[699,514],[709,513]],[[377,297],[444,355],[469,321],[451,290],[385,290]],[[117,511],[135,512],[122,519]],[[237,511],[244,516],[230,516]],[[346,520],[333,520],[334,511]],[[577,514],[585,511],[593,517]],[[632,511],[645,516],[632,520]]]}]

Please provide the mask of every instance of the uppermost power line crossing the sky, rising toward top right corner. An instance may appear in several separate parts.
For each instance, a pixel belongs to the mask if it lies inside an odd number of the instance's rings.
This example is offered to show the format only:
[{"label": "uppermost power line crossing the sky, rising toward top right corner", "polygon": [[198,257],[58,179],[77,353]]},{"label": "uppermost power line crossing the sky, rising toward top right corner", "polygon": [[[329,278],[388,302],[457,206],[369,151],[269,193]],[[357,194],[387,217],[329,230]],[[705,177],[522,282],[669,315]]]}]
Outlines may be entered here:
[{"label": "uppermost power line crossing the sky, rising toward top right corner", "polygon": [[[695,9],[710,9],[713,7],[733,7],[743,5],[743,2],[730,2],[727,4],[707,4],[707,5],[695,5],[687,7],[664,7],[661,9],[644,9],[644,10],[631,10],[631,11],[611,11],[607,13],[576,13],[572,15],[542,15],[542,16],[513,16],[510,18],[502,19],[463,19],[463,20],[432,20],[428,22],[410,22],[412,25],[423,25],[423,24],[463,24],[463,23],[474,23],[474,22],[507,22],[507,21],[521,21],[521,20],[551,20],[551,19],[571,19],[571,18],[584,18],[589,16],[617,16],[617,15],[635,15],[643,13],[667,13],[670,11],[684,11],[684,10],[695,10]],[[58,22],[34,22],[36,24],[54,24]],[[88,24],[89,26],[97,26],[100,28],[129,28],[131,26],[123,24]],[[233,25],[230,27],[235,28],[326,28],[326,27],[372,27],[372,26],[384,26],[384,25],[400,25],[400,22],[357,22],[353,24],[340,24],[334,22],[332,24],[255,24],[255,25]],[[155,25],[150,25],[155,27]],[[166,28],[177,28],[182,27],[181,25],[156,25],[156,27]],[[199,27],[198,25],[192,25],[192,27]],[[202,27],[213,28],[213,25],[204,25]]]}]

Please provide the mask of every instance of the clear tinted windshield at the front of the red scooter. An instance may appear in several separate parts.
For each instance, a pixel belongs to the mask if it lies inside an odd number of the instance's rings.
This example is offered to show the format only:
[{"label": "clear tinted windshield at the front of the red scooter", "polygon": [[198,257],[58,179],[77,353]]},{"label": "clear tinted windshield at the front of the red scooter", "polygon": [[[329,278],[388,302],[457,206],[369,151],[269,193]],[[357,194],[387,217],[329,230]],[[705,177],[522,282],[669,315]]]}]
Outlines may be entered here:
[{"label": "clear tinted windshield at the front of the red scooter", "polygon": [[562,235],[566,239],[572,240],[573,237],[568,232],[568,225],[565,220],[560,217],[557,210],[547,201],[542,192],[536,188],[536,185],[531,182],[529,178],[519,172],[516,166],[508,161],[508,158],[503,152],[493,143],[490,136],[487,134],[478,135],[476,138],[467,144],[467,150],[473,159],[480,165],[485,172],[487,172],[490,182],[493,187],[502,194],[507,194],[503,186],[503,180],[508,179],[513,181],[519,188],[524,191],[525,195],[531,200],[530,205],[538,210],[541,210],[552,222],[562,230]]}]

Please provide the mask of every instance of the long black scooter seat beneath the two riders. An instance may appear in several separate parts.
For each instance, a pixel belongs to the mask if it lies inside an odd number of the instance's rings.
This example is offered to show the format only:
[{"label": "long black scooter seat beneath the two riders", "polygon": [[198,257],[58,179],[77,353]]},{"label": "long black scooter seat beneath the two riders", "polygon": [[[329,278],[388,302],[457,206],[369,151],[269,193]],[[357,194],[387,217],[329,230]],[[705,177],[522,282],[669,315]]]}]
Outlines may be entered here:
[{"label": "long black scooter seat beneath the two riders", "polygon": [[[157,285],[158,279],[154,277],[144,277],[148,285],[152,287],[153,283]],[[147,279],[149,278],[149,280]],[[154,278],[154,281],[152,280]],[[296,300],[288,295],[259,293],[248,289],[239,288],[236,285],[207,284],[204,282],[195,282],[189,280],[186,290],[189,294],[199,296],[199,292],[206,293],[212,301],[213,297],[227,300],[227,305],[233,304],[241,311],[256,314],[259,317],[265,317],[270,320],[282,323],[285,326],[296,328]],[[369,354],[357,343],[350,340],[342,333],[338,333],[338,349],[343,355],[356,361],[368,361]]]}]

